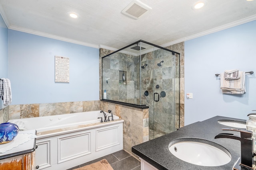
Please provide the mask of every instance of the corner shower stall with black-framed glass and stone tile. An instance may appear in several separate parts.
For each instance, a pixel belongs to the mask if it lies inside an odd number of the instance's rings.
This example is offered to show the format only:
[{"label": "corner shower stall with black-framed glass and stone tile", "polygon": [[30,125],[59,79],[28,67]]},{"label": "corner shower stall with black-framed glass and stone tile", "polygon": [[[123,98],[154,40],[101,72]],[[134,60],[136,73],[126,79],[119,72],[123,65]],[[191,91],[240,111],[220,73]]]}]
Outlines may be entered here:
[{"label": "corner shower stall with black-framed glass and stone tile", "polygon": [[140,40],[102,57],[102,100],[148,108],[149,139],[175,131],[180,53]]}]

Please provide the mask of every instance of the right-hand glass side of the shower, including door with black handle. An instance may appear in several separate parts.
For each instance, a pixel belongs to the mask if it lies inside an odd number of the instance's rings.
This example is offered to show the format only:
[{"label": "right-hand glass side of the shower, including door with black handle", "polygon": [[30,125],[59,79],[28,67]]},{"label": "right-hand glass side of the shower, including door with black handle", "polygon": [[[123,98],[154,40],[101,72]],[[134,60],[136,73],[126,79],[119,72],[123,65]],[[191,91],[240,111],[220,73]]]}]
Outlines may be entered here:
[{"label": "right-hand glass side of the shower, including door with black handle", "polygon": [[152,48],[141,55],[141,94],[142,104],[149,106],[149,139],[178,129],[180,118],[179,55]]}]

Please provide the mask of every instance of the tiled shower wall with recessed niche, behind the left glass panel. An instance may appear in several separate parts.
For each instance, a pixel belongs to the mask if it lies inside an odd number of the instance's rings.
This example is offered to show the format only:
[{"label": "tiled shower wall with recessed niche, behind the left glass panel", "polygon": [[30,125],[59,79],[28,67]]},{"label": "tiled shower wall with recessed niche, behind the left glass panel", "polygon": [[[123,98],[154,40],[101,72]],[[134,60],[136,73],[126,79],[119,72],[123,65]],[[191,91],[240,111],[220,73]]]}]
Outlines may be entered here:
[{"label": "tiled shower wall with recessed niche, behind the left glass panel", "polygon": [[[140,104],[140,58],[124,53],[114,53],[102,61],[102,93],[108,100]],[[122,81],[125,73],[125,81]]]}]

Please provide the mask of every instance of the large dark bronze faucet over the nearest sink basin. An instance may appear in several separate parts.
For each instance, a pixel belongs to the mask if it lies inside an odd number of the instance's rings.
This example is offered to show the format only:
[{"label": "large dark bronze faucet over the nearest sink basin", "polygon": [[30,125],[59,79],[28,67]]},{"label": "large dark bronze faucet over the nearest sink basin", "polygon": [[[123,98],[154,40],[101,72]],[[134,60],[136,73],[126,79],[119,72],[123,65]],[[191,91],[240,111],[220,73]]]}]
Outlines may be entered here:
[{"label": "large dark bronze faucet over the nearest sink basin", "polygon": [[220,133],[216,135],[214,139],[217,138],[229,138],[236,139],[241,142],[241,162],[240,166],[250,168],[253,170],[253,157],[256,155],[253,152],[253,138],[252,131],[247,131],[244,129],[236,129],[236,128],[222,128],[224,131],[238,131],[240,132],[240,137],[238,135],[234,135],[231,133]]}]

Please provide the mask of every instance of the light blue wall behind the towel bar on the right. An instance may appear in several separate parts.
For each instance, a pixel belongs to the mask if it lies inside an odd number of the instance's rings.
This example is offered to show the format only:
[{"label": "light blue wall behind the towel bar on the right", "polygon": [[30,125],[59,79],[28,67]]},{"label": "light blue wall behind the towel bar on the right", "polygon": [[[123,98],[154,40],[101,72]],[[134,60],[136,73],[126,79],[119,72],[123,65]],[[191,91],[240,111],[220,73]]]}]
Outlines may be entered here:
[{"label": "light blue wall behind the towel bar on the right", "polygon": [[[256,21],[185,42],[185,125],[216,115],[247,119],[256,110]],[[216,73],[239,69],[246,93],[222,94]],[[193,99],[186,99],[193,93]]]}]

